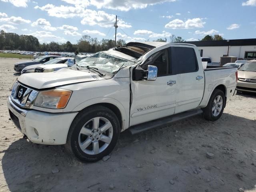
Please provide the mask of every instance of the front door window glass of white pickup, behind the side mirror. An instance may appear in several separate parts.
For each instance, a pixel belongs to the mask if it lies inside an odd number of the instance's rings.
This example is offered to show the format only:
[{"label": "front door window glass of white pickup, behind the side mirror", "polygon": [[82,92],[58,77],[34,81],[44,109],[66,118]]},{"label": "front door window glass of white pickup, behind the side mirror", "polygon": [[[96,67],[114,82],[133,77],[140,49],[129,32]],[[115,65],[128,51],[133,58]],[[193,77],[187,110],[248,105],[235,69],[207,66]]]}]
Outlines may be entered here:
[{"label": "front door window glass of white pickup, behind the side mirror", "polygon": [[154,65],[157,67],[157,76],[166,76],[170,74],[169,66],[169,53],[168,49],[158,51],[150,56],[146,62],[142,65],[144,70],[147,70],[148,65]]}]

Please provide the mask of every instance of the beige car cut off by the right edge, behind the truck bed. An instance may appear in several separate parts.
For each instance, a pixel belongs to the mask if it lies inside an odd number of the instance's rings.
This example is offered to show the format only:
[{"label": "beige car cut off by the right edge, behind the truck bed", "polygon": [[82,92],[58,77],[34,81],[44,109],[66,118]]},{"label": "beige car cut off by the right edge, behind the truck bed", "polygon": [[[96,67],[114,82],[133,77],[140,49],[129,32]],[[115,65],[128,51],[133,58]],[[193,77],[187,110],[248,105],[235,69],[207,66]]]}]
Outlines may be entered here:
[{"label": "beige car cut off by the right edge, behind the truck bed", "polygon": [[238,91],[256,93],[256,60],[248,61],[238,70]]}]

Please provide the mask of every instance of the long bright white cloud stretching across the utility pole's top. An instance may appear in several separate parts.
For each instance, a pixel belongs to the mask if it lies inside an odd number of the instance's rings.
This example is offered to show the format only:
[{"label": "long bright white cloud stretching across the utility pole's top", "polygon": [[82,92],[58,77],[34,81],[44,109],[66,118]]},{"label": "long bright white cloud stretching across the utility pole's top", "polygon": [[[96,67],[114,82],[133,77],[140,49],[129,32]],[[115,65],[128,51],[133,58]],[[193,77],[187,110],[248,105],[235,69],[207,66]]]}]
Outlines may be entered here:
[{"label": "long bright white cloud stretching across the utility pole's top", "polygon": [[[98,25],[101,27],[111,27],[113,26],[116,15],[108,14],[104,11],[95,11],[90,9],[85,9],[82,6],[54,6],[53,4],[46,4],[45,6],[39,7],[35,6],[35,9],[40,9],[48,12],[49,16],[54,16],[58,18],[73,18],[81,17],[82,24],[88,24],[90,26]],[[118,27],[120,28],[130,28],[130,24],[124,22],[124,20],[118,18]]]}]

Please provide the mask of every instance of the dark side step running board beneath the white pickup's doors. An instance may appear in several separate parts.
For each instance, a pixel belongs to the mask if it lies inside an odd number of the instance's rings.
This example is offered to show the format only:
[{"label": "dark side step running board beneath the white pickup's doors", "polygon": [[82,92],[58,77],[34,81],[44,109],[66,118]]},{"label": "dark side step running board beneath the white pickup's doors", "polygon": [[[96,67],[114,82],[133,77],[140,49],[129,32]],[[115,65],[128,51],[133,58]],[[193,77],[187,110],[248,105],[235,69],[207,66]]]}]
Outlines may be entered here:
[{"label": "dark side step running board beneath the white pickup's doors", "polygon": [[172,115],[172,116],[168,116],[165,118],[161,118],[161,119],[157,119],[157,120],[153,120],[150,122],[146,122],[146,123],[142,123],[142,124],[138,124],[138,125],[134,125],[131,126],[128,130],[130,130],[131,134],[137,134],[152,128],[156,128],[165,124],[170,124],[179,120],[183,120],[198,114],[202,114],[203,111],[201,109],[198,110],[190,110],[190,111],[186,111],[186,112],[182,112],[176,115]]}]

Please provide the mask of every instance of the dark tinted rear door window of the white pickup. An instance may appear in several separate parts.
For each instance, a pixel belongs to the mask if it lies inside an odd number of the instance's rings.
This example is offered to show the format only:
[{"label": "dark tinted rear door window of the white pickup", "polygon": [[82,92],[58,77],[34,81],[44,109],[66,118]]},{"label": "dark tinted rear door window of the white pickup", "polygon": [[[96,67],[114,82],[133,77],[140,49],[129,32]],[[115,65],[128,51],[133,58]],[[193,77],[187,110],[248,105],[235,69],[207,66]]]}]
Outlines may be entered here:
[{"label": "dark tinted rear door window of the white pickup", "polygon": [[194,48],[171,47],[171,63],[176,74],[198,71]]}]

